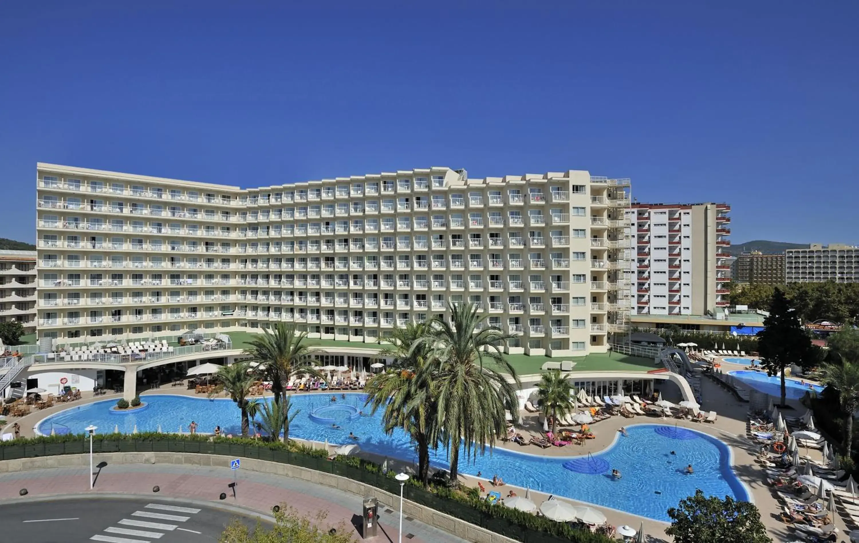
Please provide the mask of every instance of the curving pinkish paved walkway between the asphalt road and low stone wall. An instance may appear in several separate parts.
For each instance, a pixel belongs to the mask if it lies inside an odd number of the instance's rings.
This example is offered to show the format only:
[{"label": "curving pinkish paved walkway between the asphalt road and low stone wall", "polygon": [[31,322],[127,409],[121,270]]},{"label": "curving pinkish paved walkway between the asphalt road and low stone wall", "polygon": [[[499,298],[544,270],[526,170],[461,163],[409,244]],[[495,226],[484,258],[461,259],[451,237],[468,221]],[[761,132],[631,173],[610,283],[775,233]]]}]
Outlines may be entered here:
[{"label": "curving pinkish paved walkway between the asphalt road and low stone wall", "polygon": [[[20,502],[29,498],[60,495],[142,495],[149,497],[186,498],[198,501],[227,503],[271,516],[271,507],[286,503],[302,516],[316,518],[326,515],[321,523],[325,528],[349,530],[360,540],[362,498],[349,492],[338,491],[323,485],[314,485],[301,479],[276,477],[270,474],[237,470],[236,491],[228,487],[234,473],[228,468],[169,466],[164,464],[124,464],[103,467],[95,479],[92,491],[88,488],[88,468],[58,467],[0,475],[0,504]],[[155,494],[152,487],[158,485]],[[21,488],[27,497],[20,497]],[[227,493],[227,499],[219,496]],[[393,543],[398,540],[399,504],[386,503],[379,508],[379,541]],[[416,520],[403,520],[404,539],[421,543],[461,543],[447,534]]]}]

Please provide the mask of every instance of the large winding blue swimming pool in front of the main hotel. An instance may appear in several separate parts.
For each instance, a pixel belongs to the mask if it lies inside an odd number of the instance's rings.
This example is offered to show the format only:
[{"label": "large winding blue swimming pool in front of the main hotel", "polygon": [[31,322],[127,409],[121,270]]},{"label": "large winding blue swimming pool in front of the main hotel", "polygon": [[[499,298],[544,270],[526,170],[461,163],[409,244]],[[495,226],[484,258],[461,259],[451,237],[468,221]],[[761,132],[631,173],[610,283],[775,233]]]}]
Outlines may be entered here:
[{"label": "large winding blue swimming pool in front of the main hotel", "polygon": [[[293,396],[293,405],[301,412],[290,426],[290,435],[346,443],[351,442],[348,436],[353,432],[366,451],[417,462],[415,450],[404,432],[395,430],[393,436],[386,436],[381,430],[381,411],[375,416],[365,412],[351,418],[354,409],[327,409],[332,406],[330,398],[331,394]],[[335,405],[363,410],[364,398],[362,394],[346,394],[346,400],[341,400],[338,395]],[[44,419],[38,430],[50,434],[52,427],[64,424],[78,433],[94,424],[98,432],[113,432],[115,426],[119,426],[121,432],[131,432],[135,424],[140,431],[157,430],[161,424],[163,431],[178,432],[181,425],[187,432],[188,424],[194,420],[200,432],[211,432],[220,424],[228,433],[241,434],[239,411],[232,400],[167,394],[144,395],[143,400],[148,407],[140,412],[109,412],[115,400],[71,407]],[[311,415],[320,408],[324,409],[316,412],[314,418],[335,423],[314,421]],[[332,428],[332,424],[341,428]],[[485,478],[497,473],[513,485],[660,521],[668,521],[667,509],[676,506],[683,497],[693,495],[697,488],[707,495],[749,499],[746,488],[730,467],[728,447],[716,438],[660,424],[636,424],[626,429],[629,436],[618,433],[612,446],[597,455],[549,458],[506,449],[496,449],[490,455],[487,450],[486,455],[478,455],[474,461],[466,461],[465,456],[460,455],[460,471],[472,475],[479,471]],[[600,431],[598,426],[595,430]],[[528,449],[522,448],[523,451]],[[533,446],[530,449],[533,450]],[[576,448],[568,446],[567,450],[575,452]],[[676,455],[671,455],[671,451]],[[694,467],[692,475],[683,473],[688,464]],[[432,465],[448,467],[444,450],[433,454]],[[612,468],[618,469],[623,477],[612,479]]]}]

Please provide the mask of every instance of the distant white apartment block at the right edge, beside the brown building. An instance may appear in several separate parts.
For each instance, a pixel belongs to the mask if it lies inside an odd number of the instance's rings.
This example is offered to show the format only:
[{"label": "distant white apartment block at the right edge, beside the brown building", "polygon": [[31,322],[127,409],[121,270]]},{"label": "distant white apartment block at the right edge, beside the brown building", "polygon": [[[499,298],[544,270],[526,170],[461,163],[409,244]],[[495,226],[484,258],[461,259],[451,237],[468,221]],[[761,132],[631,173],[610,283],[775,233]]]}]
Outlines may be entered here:
[{"label": "distant white apartment block at the right edge, beside the brown building", "polygon": [[859,246],[812,243],[784,252],[787,283],[859,283]]}]

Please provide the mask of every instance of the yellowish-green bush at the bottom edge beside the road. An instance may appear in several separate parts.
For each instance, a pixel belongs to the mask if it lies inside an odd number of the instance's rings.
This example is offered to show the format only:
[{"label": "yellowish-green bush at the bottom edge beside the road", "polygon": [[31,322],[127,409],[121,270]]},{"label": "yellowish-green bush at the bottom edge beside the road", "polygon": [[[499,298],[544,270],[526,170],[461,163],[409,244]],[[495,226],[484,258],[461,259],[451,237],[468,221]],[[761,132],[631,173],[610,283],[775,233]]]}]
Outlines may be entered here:
[{"label": "yellowish-green bush at the bottom edge beside the road", "polygon": [[317,513],[314,520],[300,515],[285,503],[274,512],[275,525],[265,528],[260,522],[249,528],[239,519],[230,522],[218,543],[353,543],[351,527],[343,522],[331,527],[326,522],[326,511]]}]

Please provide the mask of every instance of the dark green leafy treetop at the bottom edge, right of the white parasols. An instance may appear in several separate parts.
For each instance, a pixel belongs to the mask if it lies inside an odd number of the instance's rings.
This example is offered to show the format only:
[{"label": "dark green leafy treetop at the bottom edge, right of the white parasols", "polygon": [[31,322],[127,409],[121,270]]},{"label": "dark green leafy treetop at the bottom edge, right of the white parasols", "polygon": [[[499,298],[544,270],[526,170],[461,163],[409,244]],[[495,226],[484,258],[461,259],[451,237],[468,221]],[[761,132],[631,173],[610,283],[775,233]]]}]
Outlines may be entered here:
[{"label": "dark green leafy treetop at the bottom edge, right of the white parasols", "polygon": [[668,509],[668,516],[672,522],[665,533],[674,543],[772,543],[758,508],[730,496],[704,497],[698,490]]}]

